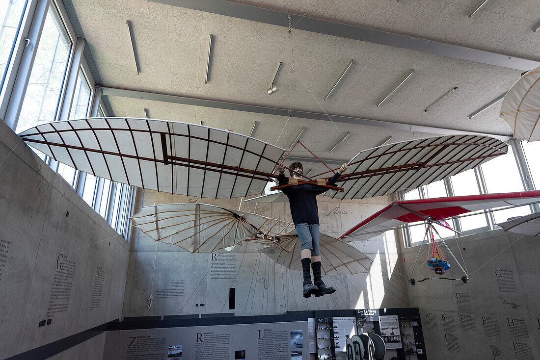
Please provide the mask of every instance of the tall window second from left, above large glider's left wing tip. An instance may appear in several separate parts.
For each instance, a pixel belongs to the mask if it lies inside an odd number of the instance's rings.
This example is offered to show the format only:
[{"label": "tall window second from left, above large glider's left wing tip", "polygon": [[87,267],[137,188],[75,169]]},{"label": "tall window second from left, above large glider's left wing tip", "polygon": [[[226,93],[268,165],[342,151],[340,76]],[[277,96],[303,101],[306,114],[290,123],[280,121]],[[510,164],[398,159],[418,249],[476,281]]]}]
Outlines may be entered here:
[{"label": "tall window second from left, above large glider's left wing tip", "polygon": [[56,118],[71,40],[54,6],[49,6],[16,132]]}]

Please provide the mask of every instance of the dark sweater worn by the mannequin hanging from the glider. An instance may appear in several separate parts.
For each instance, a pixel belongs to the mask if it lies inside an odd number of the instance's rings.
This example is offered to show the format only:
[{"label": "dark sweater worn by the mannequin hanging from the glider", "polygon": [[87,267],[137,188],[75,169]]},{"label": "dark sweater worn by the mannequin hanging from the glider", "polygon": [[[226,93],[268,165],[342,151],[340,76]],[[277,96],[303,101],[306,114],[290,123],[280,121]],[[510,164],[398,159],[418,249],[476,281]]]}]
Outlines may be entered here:
[{"label": "dark sweater worn by the mannequin hanging from the glider", "polygon": [[[328,179],[330,184],[335,184],[339,178],[339,173],[335,173],[332,178]],[[289,183],[289,178],[284,174],[278,176],[279,185]],[[317,208],[317,199],[315,196],[326,192],[327,189],[316,185],[295,185],[285,189],[281,189],[281,192],[287,195],[289,198],[289,205],[291,206],[291,216],[293,218],[294,225],[298,225],[302,222],[308,224],[319,223],[319,209]]]}]

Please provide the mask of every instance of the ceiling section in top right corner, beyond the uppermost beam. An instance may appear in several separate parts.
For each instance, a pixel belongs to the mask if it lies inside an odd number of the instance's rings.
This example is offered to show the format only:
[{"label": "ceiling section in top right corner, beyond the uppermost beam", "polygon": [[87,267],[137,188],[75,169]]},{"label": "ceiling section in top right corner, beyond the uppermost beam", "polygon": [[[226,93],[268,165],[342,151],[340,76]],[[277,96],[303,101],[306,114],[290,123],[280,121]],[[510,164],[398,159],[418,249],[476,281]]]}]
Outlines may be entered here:
[{"label": "ceiling section in top right corner, beyond the uppermost beam", "polygon": [[537,0],[231,0],[540,61]]}]

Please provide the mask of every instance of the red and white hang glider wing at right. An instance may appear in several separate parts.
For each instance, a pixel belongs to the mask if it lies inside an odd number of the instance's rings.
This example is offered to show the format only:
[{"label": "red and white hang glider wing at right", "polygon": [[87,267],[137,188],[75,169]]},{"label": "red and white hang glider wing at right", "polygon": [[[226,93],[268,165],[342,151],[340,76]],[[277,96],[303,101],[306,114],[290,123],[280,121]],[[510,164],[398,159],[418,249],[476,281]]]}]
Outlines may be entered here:
[{"label": "red and white hang glider wing at right", "polygon": [[352,241],[368,240],[404,223],[425,220],[420,214],[431,217],[433,220],[444,220],[477,210],[525,205],[534,202],[540,202],[540,191],[538,190],[394,201],[349,229],[341,235],[340,239],[350,237]]}]

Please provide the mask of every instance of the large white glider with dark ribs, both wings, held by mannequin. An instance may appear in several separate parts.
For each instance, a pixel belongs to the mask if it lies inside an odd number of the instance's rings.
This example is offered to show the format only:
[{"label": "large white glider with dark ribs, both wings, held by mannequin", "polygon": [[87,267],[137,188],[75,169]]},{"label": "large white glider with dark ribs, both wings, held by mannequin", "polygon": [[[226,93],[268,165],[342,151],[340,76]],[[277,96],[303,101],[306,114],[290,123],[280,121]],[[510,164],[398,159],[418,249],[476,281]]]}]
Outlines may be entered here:
[{"label": "large white glider with dark ribs, both wings, held by mannequin", "polygon": [[[141,188],[200,198],[258,195],[284,150],[230,131],[176,121],[90,118],[54,121],[20,134],[32,147],[80,171]],[[327,173],[299,183],[329,189],[338,199],[362,199],[416,188],[507,152],[504,142],[451,135],[397,142],[362,151],[338,186]],[[318,178],[325,175],[322,178]],[[342,184],[342,185],[341,185]],[[294,186],[286,185],[286,186]],[[343,188],[341,188],[342,186]],[[345,189],[345,191],[343,191]]]}]

